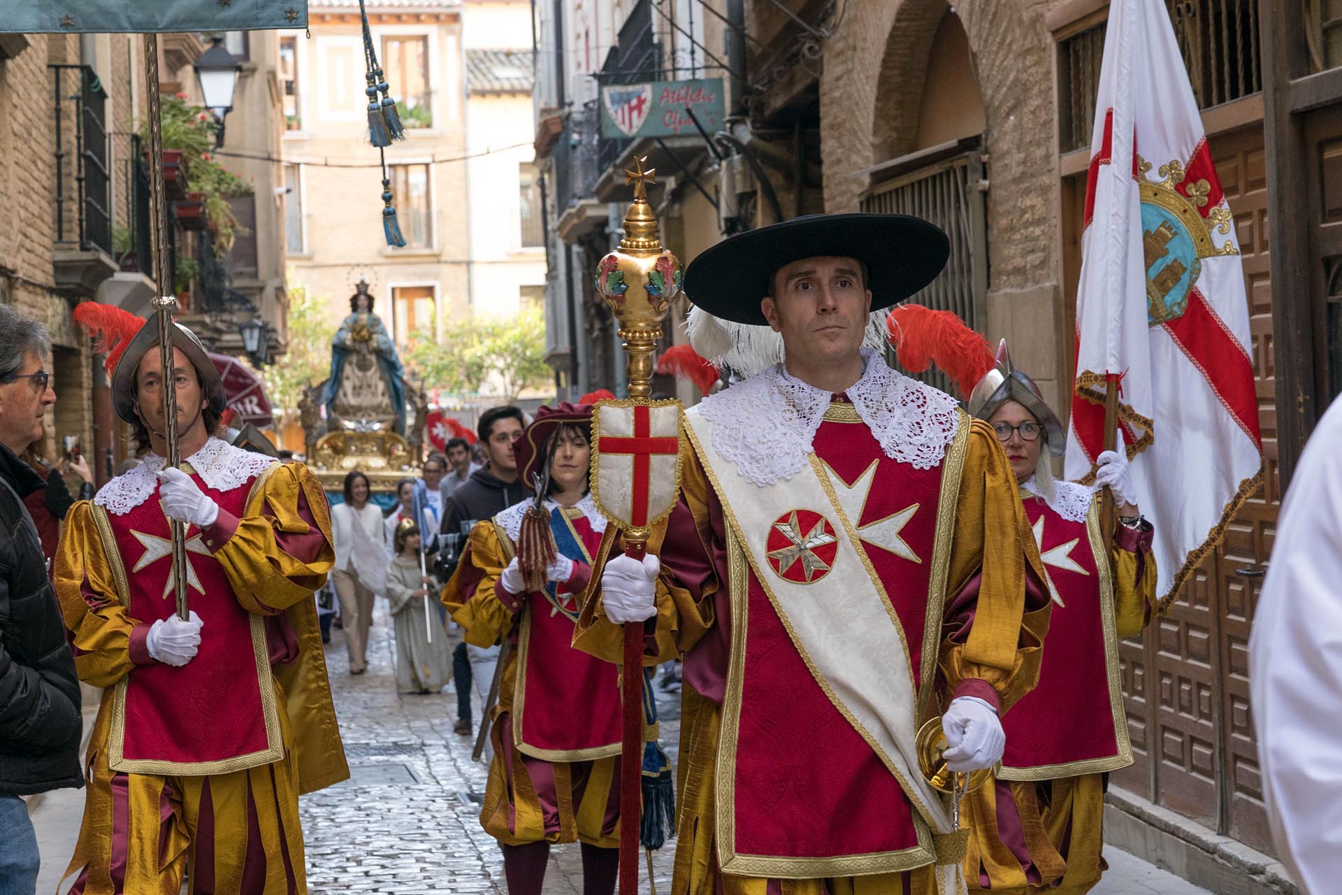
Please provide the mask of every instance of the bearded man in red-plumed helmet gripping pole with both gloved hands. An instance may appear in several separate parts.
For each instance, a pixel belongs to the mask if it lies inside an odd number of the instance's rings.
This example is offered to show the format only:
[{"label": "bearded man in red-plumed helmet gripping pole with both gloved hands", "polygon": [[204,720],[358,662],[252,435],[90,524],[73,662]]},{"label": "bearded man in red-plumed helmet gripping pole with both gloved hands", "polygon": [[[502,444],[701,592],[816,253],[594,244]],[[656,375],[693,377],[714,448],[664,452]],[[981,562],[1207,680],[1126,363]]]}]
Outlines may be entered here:
[{"label": "bearded man in red-plumed helmet gripping pole with both gloved hands", "polygon": [[[349,776],[313,602],[330,514],[306,467],[213,437],[219,373],[173,326],[185,460],[164,468],[158,329],[127,326],[107,366],[145,455],[70,509],[56,554],[75,668],[105,688],[67,876],[79,895],[176,895],[189,865],[193,892],[303,892],[298,796]],[[187,525],[189,620],[170,518]]]}]

